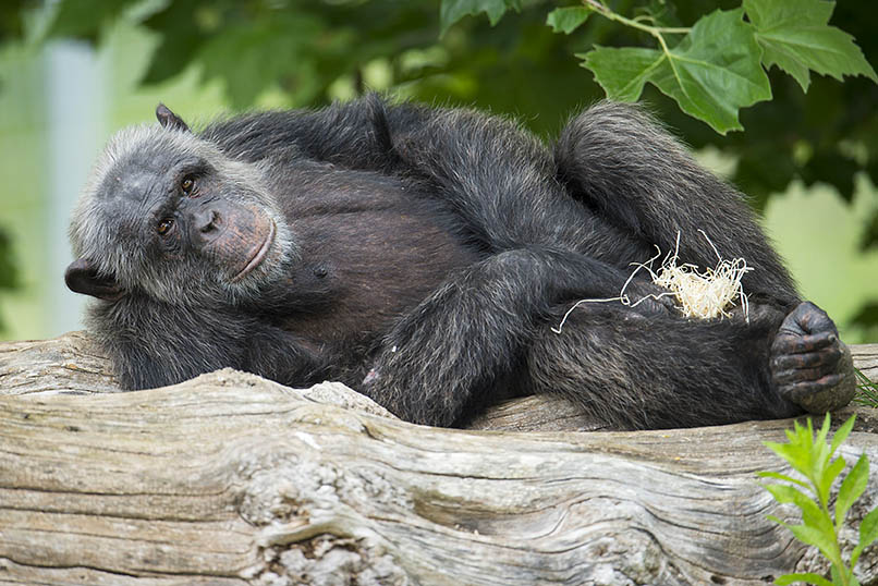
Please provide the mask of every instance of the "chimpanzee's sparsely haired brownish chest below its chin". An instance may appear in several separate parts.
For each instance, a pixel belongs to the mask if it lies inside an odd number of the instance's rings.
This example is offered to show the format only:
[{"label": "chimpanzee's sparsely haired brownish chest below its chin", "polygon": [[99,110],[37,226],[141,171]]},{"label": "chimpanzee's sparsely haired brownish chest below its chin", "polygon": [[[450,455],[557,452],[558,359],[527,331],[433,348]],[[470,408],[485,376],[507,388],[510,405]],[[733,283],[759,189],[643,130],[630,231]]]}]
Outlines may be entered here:
[{"label": "chimpanzee's sparsely haired brownish chest below its chin", "polygon": [[368,345],[478,258],[439,203],[392,178],[346,179],[288,218],[301,249],[291,284],[315,303],[284,329],[317,345]]}]

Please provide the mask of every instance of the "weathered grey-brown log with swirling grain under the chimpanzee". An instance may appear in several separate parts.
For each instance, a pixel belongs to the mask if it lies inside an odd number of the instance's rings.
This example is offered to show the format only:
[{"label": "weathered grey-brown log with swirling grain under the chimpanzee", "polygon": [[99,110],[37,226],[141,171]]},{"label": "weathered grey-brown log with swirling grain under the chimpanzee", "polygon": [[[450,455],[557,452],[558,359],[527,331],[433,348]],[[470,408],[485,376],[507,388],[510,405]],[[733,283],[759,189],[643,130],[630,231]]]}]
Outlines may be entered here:
[{"label": "weathered grey-brown log with swirling grain under the chimpanzee", "polygon": [[[878,346],[853,350],[878,378]],[[755,476],[784,469],[761,442],[791,420],[464,431],[400,422],[340,384],[232,370],[111,390],[87,337],[0,345],[0,584],[763,584],[827,571],[766,518],[797,520]],[[561,405],[517,404],[512,423],[504,405],[483,425],[533,429]],[[878,417],[858,414],[842,453],[878,464]],[[878,505],[877,468],[849,551]],[[878,584],[878,547],[858,577]]]}]

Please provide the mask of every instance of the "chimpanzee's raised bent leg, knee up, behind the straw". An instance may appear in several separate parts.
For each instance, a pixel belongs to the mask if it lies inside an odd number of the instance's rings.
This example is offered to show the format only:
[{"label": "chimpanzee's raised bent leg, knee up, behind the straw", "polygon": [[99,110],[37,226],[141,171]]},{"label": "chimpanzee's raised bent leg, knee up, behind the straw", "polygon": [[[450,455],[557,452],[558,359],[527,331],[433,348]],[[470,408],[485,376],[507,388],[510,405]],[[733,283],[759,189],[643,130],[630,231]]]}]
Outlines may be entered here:
[{"label": "chimpanzee's raised bent leg, knee up, behind the straw", "polygon": [[680,233],[680,263],[715,267],[704,231],[723,258],[743,257],[754,269],[743,280],[754,301],[790,309],[800,301],[744,196],[702,168],[642,109],[602,102],[584,111],[562,131],[554,159],[569,192],[608,223],[662,254],[674,251]]}]

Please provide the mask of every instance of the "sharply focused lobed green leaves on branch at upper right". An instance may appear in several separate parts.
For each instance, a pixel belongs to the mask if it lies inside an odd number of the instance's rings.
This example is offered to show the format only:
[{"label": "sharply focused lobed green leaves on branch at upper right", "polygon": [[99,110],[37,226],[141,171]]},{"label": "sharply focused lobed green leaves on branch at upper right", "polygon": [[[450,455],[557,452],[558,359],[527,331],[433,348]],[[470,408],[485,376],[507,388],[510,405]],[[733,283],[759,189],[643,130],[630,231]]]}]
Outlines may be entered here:
[{"label": "sharply focused lobed green leaves on branch at upper right", "polygon": [[[442,32],[479,12],[495,24],[510,9],[520,10],[521,0],[443,0]],[[582,0],[582,5],[552,10],[546,23],[569,35],[595,13],[650,35],[657,49],[595,46],[576,57],[609,98],[635,101],[650,83],[684,112],[725,134],[743,130],[741,108],[771,99],[766,74],[771,66],[792,75],[805,91],[812,71],[878,82],[853,37],[829,25],[833,9],[826,0],[743,0],[741,8],[716,10],[692,27],[666,27],[656,14],[629,19],[603,0]]]}]

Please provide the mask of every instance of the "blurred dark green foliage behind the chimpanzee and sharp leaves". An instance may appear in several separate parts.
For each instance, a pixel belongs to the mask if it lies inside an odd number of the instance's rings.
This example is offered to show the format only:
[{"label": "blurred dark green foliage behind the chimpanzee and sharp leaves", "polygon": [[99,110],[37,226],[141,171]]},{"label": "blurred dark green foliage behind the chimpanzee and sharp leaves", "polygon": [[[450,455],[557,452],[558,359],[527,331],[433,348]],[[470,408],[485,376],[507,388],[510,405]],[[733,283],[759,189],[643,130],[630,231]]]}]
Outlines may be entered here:
[{"label": "blurred dark green foliage behind the chimpanzee and sharp leaves", "polygon": [[[491,2],[497,4],[492,11],[480,11]],[[620,14],[634,16],[648,9],[670,25],[692,26],[714,9],[733,10],[741,2],[608,4]],[[472,13],[449,24],[436,0],[61,0],[48,9],[41,2],[14,0],[0,4],[0,46],[35,48],[45,39],[63,38],[100,47],[120,23],[127,23],[147,30],[154,47],[138,73],[142,87],[167,87],[190,75],[196,86],[219,88],[233,109],[319,106],[376,88],[513,114],[551,136],[572,111],[605,95],[576,53],[594,46],[651,40],[595,15],[569,35],[546,24],[552,9],[577,5],[447,0],[446,12]],[[873,63],[878,56],[876,16],[878,4],[845,1],[836,5],[830,21],[853,35]],[[3,74],[0,70],[1,83],[13,82]],[[840,83],[812,75],[804,94],[800,83],[778,68],[768,76],[773,99],[742,110],[745,132],[725,136],[681,112],[653,86],[646,86],[644,100],[692,147],[710,146],[734,161],[730,179],[753,196],[757,209],[796,180],[831,185],[846,204],[853,202],[857,181],[878,183],[876,84],[865,77]],[[857,213],[863,225],[859,251],[874,254],[878,203],[861,206]],[[0,271],[8,259],[0,248]],[[5,277],[0,273],[0,282],[9,279],[8,271]],[[857,312],[862,326],[878,327],[878,285],[871,303]]]}]

